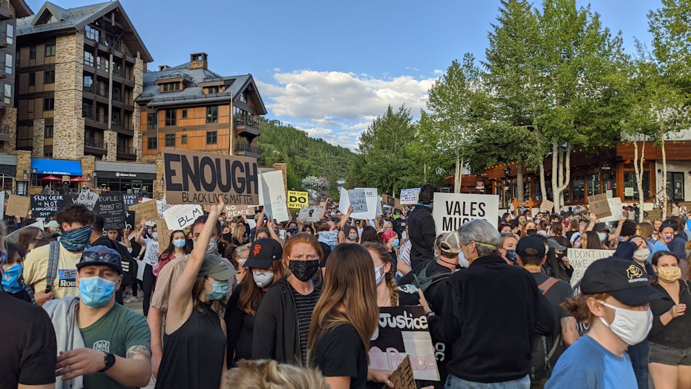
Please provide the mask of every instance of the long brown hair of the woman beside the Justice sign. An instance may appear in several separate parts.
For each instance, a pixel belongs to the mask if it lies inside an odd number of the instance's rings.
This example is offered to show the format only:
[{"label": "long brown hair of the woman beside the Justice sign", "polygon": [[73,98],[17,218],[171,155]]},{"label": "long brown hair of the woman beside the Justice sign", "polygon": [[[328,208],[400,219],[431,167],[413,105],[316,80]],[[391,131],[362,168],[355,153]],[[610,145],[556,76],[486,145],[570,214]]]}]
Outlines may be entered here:
[{"label": "long brown hair of the woman beside the Justice sign", "polygon": [[324,287],[312,312],[307,361],[319,339],[328,330],[344,323],[355,328],[363,348],[369,350],[378,321],[375,268],[370,252],[361,245],[338,245],[329,255]]}]

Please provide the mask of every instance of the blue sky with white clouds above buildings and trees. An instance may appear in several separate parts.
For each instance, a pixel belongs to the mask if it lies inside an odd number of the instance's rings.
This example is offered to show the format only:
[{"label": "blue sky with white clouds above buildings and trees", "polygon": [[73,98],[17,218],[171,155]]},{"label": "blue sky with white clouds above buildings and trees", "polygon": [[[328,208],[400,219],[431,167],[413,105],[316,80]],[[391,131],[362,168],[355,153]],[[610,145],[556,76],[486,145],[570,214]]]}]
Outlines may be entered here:
[{"label": "blue sky with white clouds above buildings and trees", "polygon": [[[34,12],[44,1],[27,0]],[[54,0],[64,8],[101,1]],[[435,79],[470,52],[484,59],[498,0],[121,0],[153,55],[149,69],[209,54],[220,75],[252,73],[277,119],[356,149],[377,116],[405,104],[415,120]],[[578,0],[579,5],[587,5]],[[539,5],[536,2],[536,5]],[[597,0],[603,25],[649,44],[659,0]],[[259,140],[261,142],[261,138]]]}]

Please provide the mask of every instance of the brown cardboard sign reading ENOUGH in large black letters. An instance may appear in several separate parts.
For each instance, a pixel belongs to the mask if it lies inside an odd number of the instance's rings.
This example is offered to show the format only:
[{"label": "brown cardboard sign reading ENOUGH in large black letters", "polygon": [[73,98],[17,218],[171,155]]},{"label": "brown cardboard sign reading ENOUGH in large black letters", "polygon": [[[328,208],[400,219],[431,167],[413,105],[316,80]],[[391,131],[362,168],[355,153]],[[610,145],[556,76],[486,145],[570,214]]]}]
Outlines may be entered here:
[{"label": "brown cardboard sign reading ENOUGH in large black letters", "polygon": [[254,158],[163,149],[163,162],[169,204],[214,204],[218,196],[229,205],[259,202],[259,171]]}]

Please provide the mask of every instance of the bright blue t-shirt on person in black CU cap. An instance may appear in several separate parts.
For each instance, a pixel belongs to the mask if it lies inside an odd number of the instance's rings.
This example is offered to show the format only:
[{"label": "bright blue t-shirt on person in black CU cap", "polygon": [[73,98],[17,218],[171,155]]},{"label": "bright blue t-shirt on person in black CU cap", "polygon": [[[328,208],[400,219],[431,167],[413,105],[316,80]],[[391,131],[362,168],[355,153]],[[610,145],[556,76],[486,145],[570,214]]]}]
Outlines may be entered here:
[{"label": "bright blue t-shirt on person in black CU cap", "polygon": [[619,357],[590,336],[581,336],[559,357],[547,381],[551,388],[637,388],[628,354]]}]

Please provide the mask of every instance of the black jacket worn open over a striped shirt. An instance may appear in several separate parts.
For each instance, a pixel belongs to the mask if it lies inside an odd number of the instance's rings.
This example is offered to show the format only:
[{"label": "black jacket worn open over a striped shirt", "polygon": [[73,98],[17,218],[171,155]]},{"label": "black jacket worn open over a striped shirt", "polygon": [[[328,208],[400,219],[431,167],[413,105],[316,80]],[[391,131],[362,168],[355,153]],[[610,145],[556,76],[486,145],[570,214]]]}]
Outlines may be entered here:
[{"label": "black jacket worn open over a striped shirt", "polygon": [[252,359],[299,364],[298,312],[286,278],[276,281],[259,304],[252,334]]}]

